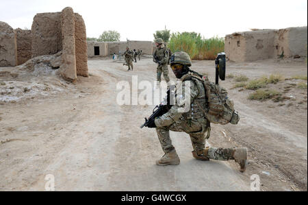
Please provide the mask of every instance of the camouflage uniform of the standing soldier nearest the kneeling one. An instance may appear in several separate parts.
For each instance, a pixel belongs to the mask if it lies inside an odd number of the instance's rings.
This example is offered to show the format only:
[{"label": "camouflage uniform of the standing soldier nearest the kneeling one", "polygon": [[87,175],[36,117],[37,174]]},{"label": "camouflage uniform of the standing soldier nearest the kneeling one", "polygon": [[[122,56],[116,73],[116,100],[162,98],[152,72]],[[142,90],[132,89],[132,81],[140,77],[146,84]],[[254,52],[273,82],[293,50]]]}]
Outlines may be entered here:
[{"label": "camouflage uniform of the standing soldier nearest the kneeling one", "polygon": [[157,67],[157,81],[158,82],[162,81],[162,73],[163,73],[166,82],[169,82],[170,81],[168,76],[169,52],[166,49],[165,45],[162,44],[161,47],[157,48],[153,56],[157,56],[159,61],[162,62],[162,65],[158,65]]}]

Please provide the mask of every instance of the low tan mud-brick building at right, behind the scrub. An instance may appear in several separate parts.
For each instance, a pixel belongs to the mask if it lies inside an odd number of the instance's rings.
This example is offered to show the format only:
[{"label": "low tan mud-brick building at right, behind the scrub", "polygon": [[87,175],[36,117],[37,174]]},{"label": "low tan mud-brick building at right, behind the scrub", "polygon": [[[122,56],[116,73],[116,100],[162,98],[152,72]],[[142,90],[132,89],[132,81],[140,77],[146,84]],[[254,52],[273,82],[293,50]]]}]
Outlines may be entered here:
[{"label": "low tan mud-brick building at right, behind the scrub", "polygon": [[307,27],[265,29],[227,35],[224,51],[229,60],[249,62],[268,58],[307,56]]}]

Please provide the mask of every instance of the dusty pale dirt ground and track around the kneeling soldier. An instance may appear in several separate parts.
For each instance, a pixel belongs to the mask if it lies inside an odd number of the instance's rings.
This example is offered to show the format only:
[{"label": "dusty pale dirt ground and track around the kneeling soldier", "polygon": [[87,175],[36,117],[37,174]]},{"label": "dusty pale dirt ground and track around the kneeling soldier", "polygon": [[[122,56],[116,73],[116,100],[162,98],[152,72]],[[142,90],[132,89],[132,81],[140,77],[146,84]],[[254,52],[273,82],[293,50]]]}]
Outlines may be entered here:
[{"label": "dusty pale dirt ground and track around the kneeling soldier", "polygon": [[[214,79],[214,62],[193,64]],[[0,191],[44,191],[47,174],[55,176],[57,191],[250,191],[253,174],[261,178],[262,191],[307,191],[307,90],[292,86],[285,93],[292,97],[283,103],[251,101],[253,91],[229,90],[241,121],[213,125],[209,143],[248,147],[246,173],[234,162],[194,160],[190,138],[175,132],[181,165],[157,167],[162,150],[155,130],[139,128],[153,106],[116,104],[116,84],[131,82],[131,75],[154,81],[155,64],[144,58],[127,72],[118,62],[94,58],[88,67],[90,77],[79,77],[77,84],[50,73],[16,76],[18,70],[1,68]],[[230,62],[228,69],[251,79],[307,75],[305,62]],[[270,86],[284,91],[298,81]],[[226,88],[233,84],[222,82]]]}]

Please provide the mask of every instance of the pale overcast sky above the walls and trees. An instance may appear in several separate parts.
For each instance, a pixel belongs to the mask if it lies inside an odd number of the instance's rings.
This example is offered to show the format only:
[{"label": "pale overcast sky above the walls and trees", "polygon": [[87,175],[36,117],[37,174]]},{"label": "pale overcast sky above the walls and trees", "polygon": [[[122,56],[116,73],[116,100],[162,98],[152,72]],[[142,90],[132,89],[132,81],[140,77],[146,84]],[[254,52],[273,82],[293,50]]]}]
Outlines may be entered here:
[{"label": "pale overcast sky above the walls and trees", "polygon": [[84,17],[88,37],[114,29],[121,40],[153,40],[165,25],[171,32],[198,32],[223,37],[249,29],[307,26],[307,0],[0,0],[0,21],[13,28],[31,28],[39,12],[60,12],[66,6]]}]

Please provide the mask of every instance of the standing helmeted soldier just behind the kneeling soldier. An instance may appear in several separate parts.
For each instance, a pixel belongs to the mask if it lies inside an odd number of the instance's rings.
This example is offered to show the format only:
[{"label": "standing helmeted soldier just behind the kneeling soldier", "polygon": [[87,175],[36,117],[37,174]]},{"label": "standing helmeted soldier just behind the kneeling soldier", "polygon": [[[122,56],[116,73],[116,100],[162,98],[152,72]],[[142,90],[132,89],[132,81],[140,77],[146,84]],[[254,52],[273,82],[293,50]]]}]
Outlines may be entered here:
[{"label": "standing helmeted soldier just behind the kneeling soldier", "polygon": [[157,82],[162,81],[162,73],[164,74],[164,78],[169,85],[170,78],[168,76],[168,62],[169,62],[169,55],[168,49],[164,45],[164,40],[162,38],[155,39],[155,45],[157,47],[156,51],[153,54],[153,61],[158,64],[157,67]]}]

